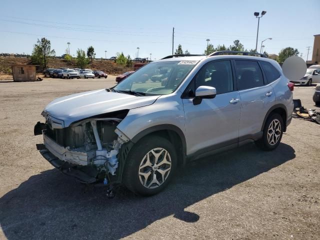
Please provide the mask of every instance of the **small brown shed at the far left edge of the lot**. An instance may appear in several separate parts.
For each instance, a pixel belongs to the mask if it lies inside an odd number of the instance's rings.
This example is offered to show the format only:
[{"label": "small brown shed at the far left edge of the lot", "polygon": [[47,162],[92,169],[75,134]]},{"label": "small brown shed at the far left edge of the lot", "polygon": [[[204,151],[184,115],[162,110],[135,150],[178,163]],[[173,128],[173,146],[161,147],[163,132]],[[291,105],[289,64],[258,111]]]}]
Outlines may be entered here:
[{"label": "small brown shed at the far left edge of the lot", "polygon": [[13,81],[35,81],[35,66],[28,64],[12,65]]}]

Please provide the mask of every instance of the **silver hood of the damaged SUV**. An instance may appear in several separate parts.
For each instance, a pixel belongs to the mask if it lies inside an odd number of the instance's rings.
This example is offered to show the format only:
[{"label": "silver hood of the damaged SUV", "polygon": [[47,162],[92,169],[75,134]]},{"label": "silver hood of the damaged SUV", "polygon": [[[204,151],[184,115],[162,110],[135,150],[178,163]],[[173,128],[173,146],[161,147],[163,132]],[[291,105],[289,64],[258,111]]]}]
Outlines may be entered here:
[{"label": "silver hood of the damaged SUV", "polygon": [[72,122],[90,116],[132,109],[152,104],[159,96],[135,96],[125,93],[107,92],[105,89],[86,91],[59,97],[43,109],[41,115],[48,114],[63,120],[67,127]]}]

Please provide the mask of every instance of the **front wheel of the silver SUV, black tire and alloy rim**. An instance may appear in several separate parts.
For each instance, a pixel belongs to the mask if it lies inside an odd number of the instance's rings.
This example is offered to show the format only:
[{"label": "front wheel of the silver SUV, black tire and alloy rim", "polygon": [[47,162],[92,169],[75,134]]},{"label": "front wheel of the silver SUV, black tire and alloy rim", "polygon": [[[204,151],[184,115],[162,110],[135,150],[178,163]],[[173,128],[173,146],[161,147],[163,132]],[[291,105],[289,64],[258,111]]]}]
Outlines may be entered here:
[{"label": "front wheel of the silver SUV, black tire and alloy rim", "polygon": [[140,195],[153,195],[165,188],[177,165],[172,143],[159,136],[139,140],[126,159],[123,183]]}]

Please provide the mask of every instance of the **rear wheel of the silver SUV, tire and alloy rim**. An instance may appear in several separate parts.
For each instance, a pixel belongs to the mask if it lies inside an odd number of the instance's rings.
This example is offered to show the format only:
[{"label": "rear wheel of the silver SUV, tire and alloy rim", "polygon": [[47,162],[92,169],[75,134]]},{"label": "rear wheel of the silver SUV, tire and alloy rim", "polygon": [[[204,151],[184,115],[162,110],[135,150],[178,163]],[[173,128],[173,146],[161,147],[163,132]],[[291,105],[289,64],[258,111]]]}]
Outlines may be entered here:
[{"label": "rear wheel of the silver SUV, tire and alloy rim", "polygon": [[278,113],[271,113],[265,122],[262,138],[255,142],[256,145],[265,151],[275,149],[280,144],[283,128],[282,117]]}]

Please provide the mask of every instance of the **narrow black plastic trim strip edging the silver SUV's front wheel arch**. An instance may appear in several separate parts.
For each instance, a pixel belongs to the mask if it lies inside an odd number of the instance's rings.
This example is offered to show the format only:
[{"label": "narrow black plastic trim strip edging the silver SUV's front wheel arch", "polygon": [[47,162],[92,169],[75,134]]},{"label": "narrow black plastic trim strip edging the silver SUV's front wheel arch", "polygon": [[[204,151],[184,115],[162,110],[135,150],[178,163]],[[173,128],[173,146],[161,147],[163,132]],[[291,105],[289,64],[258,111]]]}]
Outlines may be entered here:
[{"label": "narrow black plastic trim strip edging the silver SUV's front wheel arch", "polygon": [[174,131],[175,133],[178,134],[178,136],[180,137],[180,140],[182,142],[182,152],[183,152],[183,165],[185,164],[186,161],[186,142],[185,142],[185,136],[183,134],[183,131],[172,124],[159,124],[159,125],[155,125],[155,126],[151,126],[149,128],[146,128],[142,131],[140,131],[139,133],[137,133],[134,137],[132,137],[131,141],[133,143],[136,143],[138,140],[140,140],[142,137],[155,132],[155,131],[159,131],[159,130],[171,130]]}]

